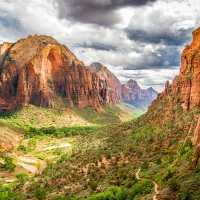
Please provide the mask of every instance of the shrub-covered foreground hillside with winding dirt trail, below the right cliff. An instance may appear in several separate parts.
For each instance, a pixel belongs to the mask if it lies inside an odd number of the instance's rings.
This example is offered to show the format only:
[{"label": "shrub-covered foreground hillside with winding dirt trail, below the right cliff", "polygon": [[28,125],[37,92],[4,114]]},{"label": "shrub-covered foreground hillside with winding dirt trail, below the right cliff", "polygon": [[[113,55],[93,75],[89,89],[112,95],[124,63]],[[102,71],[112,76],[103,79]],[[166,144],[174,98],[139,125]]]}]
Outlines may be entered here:
[{"label": "shrub-covered foreground hillside with winding dirt trail, below the right cliff", "polygon": [[[14,191],[35,199],[38,193],[47,199],[152,199],[155,181],[161,199],[198,199],[200,170],[191,169],[195,148],[184,127],[199,111],[183,113],[174,105],[178,118],[156,124],[164,104],[136,120],[75,135],[70,156],[48,163],[41,175]],[[135,177],[139,168],[142,180]]]}]

